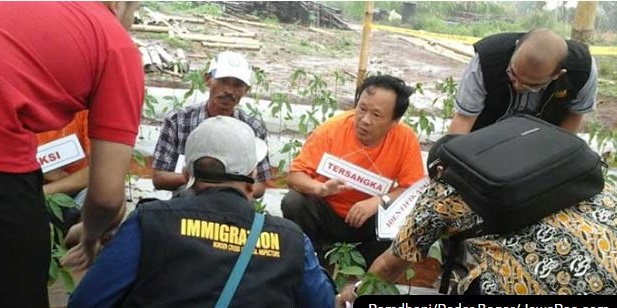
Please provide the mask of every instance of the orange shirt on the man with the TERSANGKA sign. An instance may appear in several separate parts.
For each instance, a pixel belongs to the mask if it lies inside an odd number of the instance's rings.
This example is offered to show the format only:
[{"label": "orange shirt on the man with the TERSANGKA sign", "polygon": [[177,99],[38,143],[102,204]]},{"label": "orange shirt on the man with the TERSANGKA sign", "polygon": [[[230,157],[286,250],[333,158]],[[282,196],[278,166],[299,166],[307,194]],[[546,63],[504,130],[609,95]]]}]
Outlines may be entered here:
[{"label": "orange shirt on the man with the TERSANGKA sign", "polygon": [[[372,148],[358,142],[354,129],[355,111],[347,111],[321,124],[308,136],[298,156],[292,161],[290,172],[304,172],[321,182],[328,179],[317,174],[317,166],[324,153],[329,153],[356,166],[394,180],[399,187],[409,187],[424,176],[420,143],[413,130],[404,124],[395,125]],[[332,210],[345,217],[358,201],[371,196],[355,189],[325,198]]]}]

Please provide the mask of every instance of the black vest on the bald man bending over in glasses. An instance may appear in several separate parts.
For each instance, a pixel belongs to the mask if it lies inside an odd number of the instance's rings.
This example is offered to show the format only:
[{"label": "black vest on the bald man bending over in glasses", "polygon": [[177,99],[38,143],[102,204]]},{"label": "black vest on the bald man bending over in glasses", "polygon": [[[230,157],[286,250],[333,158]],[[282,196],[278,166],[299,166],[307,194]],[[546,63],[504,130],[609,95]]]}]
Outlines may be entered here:
[{"label": "black vest on the bald man bending over in glasses", "polygon": [[[480,57],[480,67],[486,98],[484,109],[476,119],[472,131],[497,122],[510,107],[514,100],[514,89],[506,69],[516,47],[516,40],[524,33],[500,33],[488,36],[473,45]],[[542,91],[540,108],[533,114],[550,123],[559,125],[567,112],[567,104],[576,98],[578,91],[589,79],[591,71],[591,55],[587,46],[566,41],[568,57],[565,62],[567,72],[559,79],[551,82]]]}]

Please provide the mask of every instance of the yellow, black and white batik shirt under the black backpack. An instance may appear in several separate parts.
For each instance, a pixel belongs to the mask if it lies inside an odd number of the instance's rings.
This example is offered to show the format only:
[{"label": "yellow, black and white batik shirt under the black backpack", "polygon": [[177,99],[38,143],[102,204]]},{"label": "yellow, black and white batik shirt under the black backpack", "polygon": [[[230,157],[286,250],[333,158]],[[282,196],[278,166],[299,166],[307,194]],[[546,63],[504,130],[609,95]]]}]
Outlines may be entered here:
[{"label": "yellow, black and white batik shirt under the black backpack", "polygon": [[[466,241],[477,262],[458,284],[480,278],[482,294],[617,294],[617,195],[604,192],[520,231]],[[432,183],[407,217],[392,252],[425,258],[441,236],[482,223],[456,190]]]}]

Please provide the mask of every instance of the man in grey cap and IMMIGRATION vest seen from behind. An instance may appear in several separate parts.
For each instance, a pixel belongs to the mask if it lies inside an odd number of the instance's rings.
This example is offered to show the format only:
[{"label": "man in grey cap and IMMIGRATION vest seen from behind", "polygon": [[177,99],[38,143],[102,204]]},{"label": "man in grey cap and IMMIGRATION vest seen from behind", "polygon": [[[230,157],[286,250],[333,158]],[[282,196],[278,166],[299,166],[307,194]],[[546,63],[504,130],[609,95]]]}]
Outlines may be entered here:
[{"label": "man in grey cap and IMMIGRATION vest seen from behind", "polygon": [[[263,140],[237,119],[206,119],[186,143],[195,195],[140,206],[71,296],[69,307],[214,307],[255,217]],[[230,307],[332,307],[334,289],[310,240],[266,215]]]}]

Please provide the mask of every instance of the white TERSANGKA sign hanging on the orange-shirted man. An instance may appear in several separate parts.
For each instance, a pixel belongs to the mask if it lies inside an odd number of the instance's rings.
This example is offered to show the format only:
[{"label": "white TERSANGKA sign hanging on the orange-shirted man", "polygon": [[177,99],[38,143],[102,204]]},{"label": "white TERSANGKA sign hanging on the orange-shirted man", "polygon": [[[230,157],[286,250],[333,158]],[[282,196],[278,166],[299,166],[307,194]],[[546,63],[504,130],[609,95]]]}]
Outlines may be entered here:
[{"label": "white TERSANGKA sign hanging on the orange-shirted man", "polygon": [[317,173],[327,178],[343,180],[353,188],[371,196],[387,193],[393,183],[386,177],[328,153],[324,153],[321,157],[317,166]]}]

